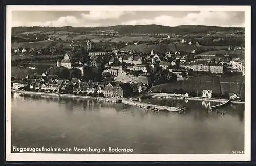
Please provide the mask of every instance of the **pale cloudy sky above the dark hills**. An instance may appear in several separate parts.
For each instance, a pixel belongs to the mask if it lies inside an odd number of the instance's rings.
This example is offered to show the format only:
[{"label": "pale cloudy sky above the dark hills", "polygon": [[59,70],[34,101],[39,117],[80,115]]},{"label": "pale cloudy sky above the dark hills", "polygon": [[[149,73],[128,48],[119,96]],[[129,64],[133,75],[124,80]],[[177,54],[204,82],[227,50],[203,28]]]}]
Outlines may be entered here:
[{"label": "pale cloudy sky above the dark hills", "polygon": [[244,27],[241,11],[12,11],[12,27],[158,24]]}]

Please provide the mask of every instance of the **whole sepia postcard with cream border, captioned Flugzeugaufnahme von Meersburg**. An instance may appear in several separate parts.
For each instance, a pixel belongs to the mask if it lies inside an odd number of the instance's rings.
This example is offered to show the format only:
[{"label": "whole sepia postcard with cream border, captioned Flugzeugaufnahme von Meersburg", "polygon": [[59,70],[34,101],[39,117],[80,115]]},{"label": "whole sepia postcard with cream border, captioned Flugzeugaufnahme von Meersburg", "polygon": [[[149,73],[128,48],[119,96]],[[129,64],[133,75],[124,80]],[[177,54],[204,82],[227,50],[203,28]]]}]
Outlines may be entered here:
[{"label": "whole sepia postcard with cream border, captioned Flugzeugaufnahme von Meersburg", "polygon": [[7,6],[7,161],[249,161],[250,6]]}]

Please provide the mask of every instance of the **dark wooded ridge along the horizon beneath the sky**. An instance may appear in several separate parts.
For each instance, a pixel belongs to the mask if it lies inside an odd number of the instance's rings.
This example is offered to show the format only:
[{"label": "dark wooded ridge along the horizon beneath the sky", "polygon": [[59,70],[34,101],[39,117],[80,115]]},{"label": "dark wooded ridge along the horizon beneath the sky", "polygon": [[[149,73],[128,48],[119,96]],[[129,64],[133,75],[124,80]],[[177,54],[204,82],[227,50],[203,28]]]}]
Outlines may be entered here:
[{"label": "dark wooded ridge along the horizon beneath the sky", "polygon": [[12,27],[12,35],[24,32],[48,32],[48,31],[67,31],[76,33],[88,33],[98,30],[113,30],[118,31],[119,34],[132,34],[132,33],[206,33],[210,31],[244,31],[241,27],[218,27],[218,26],[203,26],[203,25],[180,25],[176,27],[161,26],[161,25],[116,25],[107,27]]}]

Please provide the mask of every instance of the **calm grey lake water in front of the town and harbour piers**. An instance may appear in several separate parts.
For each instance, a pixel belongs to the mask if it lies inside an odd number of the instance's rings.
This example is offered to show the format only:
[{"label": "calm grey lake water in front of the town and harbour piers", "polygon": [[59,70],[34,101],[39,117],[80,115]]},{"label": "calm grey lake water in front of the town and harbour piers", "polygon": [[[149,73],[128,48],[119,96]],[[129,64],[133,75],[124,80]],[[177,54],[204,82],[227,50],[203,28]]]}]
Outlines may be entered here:
[{"label": "calm grey lake water in front of the town and harbour piers", "polygon": [[142,100],[186,106],[187,110],[184,114],[155,113],[122,103],[20,97],[18,93],[12,93],[12,146],[119,147],[132,148],[137,154],[244,151],[244,105],[231,105],[217,113],[207,110],[208,102]]}]

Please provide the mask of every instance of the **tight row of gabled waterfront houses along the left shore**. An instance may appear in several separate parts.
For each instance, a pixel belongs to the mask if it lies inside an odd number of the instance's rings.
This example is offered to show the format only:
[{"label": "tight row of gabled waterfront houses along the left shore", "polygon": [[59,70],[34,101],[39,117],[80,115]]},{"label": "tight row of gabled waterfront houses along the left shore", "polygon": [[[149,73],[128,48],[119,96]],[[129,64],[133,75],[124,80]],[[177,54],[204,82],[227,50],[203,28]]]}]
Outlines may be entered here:
[{"label": "tight row of gabled waterfront houses along the left shore", "polygon": [[15,90],[34,90],[54,93],[88,93],[92,96],[129,97],[134,93],[146,91],[147,85],[129,83],[82,82],[80,79],[58,79],[57,77],[42,76],[37,79],[17,80],[13,83]]}]

